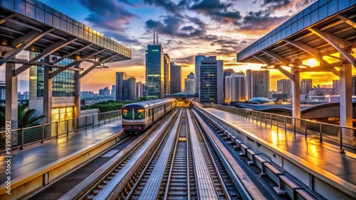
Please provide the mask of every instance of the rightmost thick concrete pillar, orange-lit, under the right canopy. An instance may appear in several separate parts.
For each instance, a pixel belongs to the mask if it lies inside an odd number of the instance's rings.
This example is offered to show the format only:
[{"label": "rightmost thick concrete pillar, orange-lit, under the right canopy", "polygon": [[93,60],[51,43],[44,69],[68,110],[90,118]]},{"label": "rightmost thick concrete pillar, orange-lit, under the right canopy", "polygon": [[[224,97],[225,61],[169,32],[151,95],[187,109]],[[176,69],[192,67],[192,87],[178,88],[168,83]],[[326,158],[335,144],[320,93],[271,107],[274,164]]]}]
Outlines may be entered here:
[{"label": "rightmost thick concrete pillar, orange-lit, under the right canopy", "polygon": [[340,67],[340,126],[352,127],[352,65]]}]

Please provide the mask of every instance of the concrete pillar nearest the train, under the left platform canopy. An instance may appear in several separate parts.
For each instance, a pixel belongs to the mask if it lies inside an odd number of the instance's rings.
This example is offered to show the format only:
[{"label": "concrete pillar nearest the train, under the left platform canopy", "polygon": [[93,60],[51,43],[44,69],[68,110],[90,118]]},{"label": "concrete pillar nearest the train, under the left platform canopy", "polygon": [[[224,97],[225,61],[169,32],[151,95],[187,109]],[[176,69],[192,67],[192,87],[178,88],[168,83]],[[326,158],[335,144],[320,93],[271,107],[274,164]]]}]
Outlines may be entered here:
[{"label": "concrete pillar nearest the train, under the left platform canopy", "polygon": [[44,82],[43,82],[43,123],[52,122],[52,79],[49,78],[51,67],[44,67]]}]

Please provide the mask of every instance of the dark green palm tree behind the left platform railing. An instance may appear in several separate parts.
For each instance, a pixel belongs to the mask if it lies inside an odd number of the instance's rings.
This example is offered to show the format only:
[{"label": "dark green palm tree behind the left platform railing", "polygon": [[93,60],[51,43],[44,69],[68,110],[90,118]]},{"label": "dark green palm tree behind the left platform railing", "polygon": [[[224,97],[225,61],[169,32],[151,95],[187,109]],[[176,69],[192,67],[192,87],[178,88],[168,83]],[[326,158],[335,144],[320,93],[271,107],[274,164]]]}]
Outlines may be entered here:
[{"label": "dark green palm tree behind the left platform railing", "polygon": [[[27,128],[30,126],[36,126],[39,125],[38,121],[41,118],[44,118],[44,115],[41,116],[34,116],[34,113],[36,112],[36,109],[28,109],[28,102],[22,105],[19,105],[18,107],[18,128]],[[1,128],[4,128],[5,125],[5,112],[0,111],[0,126]]]}]

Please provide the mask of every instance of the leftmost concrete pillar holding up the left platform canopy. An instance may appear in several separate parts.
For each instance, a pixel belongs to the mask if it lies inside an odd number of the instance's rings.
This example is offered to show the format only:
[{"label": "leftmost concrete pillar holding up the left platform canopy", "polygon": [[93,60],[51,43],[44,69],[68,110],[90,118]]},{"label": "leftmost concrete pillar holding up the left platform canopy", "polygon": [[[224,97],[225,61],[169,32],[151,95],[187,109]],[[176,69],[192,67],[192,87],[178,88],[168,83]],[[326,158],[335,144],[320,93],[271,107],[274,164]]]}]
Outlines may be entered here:
[{"label": "leftmost concrete pillar holding up the left platform canopy", "polygon": [[[17,77],[12,76],[12,70],[15,69],[15,64],[6,63],[5,121],[11,121],[11,129],[18,128]],[[14,140],[17,140],[17,137],[13,138]]]}]

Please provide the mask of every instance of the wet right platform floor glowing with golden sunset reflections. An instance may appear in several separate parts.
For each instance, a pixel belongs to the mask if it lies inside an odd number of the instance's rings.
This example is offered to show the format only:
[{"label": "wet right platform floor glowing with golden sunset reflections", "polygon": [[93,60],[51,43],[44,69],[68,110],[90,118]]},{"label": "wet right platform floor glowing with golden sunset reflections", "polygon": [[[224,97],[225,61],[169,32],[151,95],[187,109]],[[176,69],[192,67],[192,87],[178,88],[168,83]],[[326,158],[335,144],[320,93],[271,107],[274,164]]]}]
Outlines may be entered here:
[{"label": "wet right platform floor glowing with golden sunset reflections", "polygon": [[320,144],[318,140],[313,138],[305,140],[304,135],[294,135],[294,133],[288,131],[285,133],[284,128],[279,128],[278,130],[276,126],[271,128],[269,125],[265,126],[264,123],[260,125],[259,122],[252,122],[246,118],[218,109],[204,109],[265,140],[276,150],[289,152],[305,160],[305,162],[315,165],[316,169],[320,168],[340,177],[345,182],[356,185],[356,155],[354,153],[345,152],[345,154],[340,154],[338,146],[328,143]]}]

